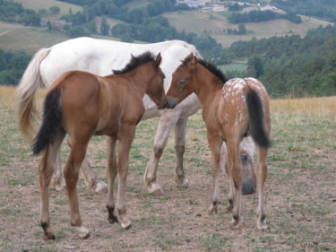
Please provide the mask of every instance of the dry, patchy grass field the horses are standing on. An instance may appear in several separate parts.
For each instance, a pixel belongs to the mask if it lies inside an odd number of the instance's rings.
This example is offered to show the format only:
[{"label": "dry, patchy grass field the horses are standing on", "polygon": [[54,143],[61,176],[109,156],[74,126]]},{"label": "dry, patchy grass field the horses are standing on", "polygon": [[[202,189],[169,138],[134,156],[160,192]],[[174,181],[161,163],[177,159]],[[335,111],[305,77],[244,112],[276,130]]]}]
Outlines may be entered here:
[{"label": "dry, patchy grass field the horses are standing on", "polygon": [[[244,196],[244,220],[229,230],[228,182],[220,180],[217,215],[211,204],[210,150],[201,113],[187,129],[185,172],[190,188],[174,185],[173,137],[159,162],[164,196],[151,196],[142,175],[158,119],[141,122],[131,152],[126,190],[130,230],[109,224],[107,196],[78,185],[82,221],[90,239],[79,239],[69,224],[65,191],[50,189],[51,225],[56,240],[44,240],[39,226],[40,157],[17,129],[13,88],[0,88],[0,250],[1,251],[336,251],[336,97],[272,100],[273,146],[269,152],[266,213],[269,230],[255,228],[257,196]],[[39,93],[39,104],[44,92]],[[65,160],[68,148],[63,148]],[[103,137],[90,143],[89,160],[106,178]]]}]

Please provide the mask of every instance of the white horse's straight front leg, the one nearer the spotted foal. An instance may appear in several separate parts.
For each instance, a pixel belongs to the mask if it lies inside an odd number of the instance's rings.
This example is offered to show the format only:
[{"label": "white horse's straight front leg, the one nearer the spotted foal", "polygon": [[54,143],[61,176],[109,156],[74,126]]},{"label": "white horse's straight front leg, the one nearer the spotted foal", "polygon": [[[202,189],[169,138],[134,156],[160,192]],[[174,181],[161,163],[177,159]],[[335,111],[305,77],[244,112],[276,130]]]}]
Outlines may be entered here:
[{"label": "white horse's straight front leg, the one nearer the spotted foal", "polygon": [[185,132],[188,117],[180,118],[175,126],[175,150],[177,152],[177,169],[175,173],[175,181],[177,187],[189,187],[188,179],[185,178],[185,170],[183,169],[183,155],[185,153]]}]

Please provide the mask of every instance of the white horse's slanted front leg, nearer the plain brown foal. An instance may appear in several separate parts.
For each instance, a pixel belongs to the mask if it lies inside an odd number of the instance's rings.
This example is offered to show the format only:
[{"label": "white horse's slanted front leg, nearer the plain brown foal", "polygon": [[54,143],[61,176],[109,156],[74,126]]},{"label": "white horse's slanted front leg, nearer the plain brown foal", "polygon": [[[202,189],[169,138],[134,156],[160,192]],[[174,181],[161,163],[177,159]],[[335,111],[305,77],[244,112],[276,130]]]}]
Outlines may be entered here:
[{"label": "white horse's slanted front leg, nearer the plain brown foal", "polygon": [[153,152],[151,160],[148,162],[146,171],[143,176],[143,183],[150,193],[162,194],[162,189],[156,181],[156,172],[159,165],[159,158],[165,148],[171,130],[177,124],[179,113],[176,111],[166,110],[161,114],[159,119],[158,130],[154,139]]}]

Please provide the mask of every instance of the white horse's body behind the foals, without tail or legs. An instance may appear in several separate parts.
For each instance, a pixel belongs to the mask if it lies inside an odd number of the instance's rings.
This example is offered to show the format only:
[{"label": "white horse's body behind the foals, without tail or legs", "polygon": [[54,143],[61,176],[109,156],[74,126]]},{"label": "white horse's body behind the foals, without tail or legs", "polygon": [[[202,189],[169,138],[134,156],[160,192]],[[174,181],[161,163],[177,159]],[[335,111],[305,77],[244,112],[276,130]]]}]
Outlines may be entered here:
[{"label": "white horse's body behind the foals, without tail or legs", "polygon": [[[154,54],[161,53],[160,66],[166,75],[164,83],[166,91],[171,82],[171,75],[181,64],[181,60],[190,53],[200,56],[193,45],[180,40],[154,44],[131,44],[113,40],[78,38],[67,40],[50,48],[48,56],[40,65],[40,75],[47,87],[51,86],[61,74],[71,70],[104,76],[112,74],[112,70],[122,69],[130,61],[131,54],[137,56],[148,50]],[[147,95],[143,102],[146,108],[143,118],[159,116],[159,110]],[[201,107],[193,94],[182,102],[179,108],[185,108],[182,113],[189,116]]]}]

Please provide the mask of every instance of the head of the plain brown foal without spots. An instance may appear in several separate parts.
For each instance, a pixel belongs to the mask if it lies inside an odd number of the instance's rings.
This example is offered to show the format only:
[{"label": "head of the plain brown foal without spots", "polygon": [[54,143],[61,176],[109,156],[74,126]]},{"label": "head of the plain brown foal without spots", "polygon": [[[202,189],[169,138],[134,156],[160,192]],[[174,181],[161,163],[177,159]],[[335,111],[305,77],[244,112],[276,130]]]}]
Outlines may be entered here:
[{"label": "head of the plain brown foal without spots", "polygon": [[163,74],[162,69],[159,67],[161,64],[162,57],[161,54],[156,57],[155,61],[149,64],[148,77],[149,82],[146,87],[146,94],[148,94],[152,101],[158,106],[158,109],[163,109],[166,105],[165,100],[165,89],[163,86],[163,80],[165,74]]}]

